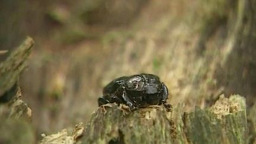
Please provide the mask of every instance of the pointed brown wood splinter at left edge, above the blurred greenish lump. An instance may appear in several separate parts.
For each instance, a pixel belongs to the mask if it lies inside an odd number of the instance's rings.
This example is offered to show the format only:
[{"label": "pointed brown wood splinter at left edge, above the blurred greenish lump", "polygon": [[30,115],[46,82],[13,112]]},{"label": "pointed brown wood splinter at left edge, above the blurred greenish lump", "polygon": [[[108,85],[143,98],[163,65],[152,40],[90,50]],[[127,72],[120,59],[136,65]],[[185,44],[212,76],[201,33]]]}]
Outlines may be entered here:
[{"label": "pointed brown wood splinter at left edge, above the blurred greenish lump", "polygon": [[31,109],[21,100],[21,89],[17,81],[25,68],[26,60],[31,53],[33,39],[27,37],[23,43],[12,52],[7,60],[0,64],[0,115],[18,119],[31,119]]}]

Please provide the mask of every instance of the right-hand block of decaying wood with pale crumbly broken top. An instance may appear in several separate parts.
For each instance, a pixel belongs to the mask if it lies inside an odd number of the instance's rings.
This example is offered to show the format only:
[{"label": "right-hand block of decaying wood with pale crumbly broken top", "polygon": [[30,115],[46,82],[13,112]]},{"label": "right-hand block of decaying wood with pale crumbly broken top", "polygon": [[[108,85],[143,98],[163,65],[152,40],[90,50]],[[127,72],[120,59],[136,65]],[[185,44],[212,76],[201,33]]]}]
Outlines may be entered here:
[{"label": "right-hand block of decaying wood with pale crumbly broken top", "polygon": [[245,98],[223,95],[208,110],[196,110],[186,118],[188,139],[193,143],[245,143],[247,115]]}]

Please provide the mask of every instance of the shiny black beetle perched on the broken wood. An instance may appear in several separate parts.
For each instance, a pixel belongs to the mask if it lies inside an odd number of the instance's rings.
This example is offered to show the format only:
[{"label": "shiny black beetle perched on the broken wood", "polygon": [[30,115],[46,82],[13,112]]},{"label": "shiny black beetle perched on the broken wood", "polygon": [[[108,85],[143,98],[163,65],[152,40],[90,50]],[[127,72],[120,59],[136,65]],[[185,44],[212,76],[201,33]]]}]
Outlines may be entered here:
[{"label": "shiny black beetle perched on the broken wood", "polygon": [[167,111],[168,89],[156,75],[141,73],[114,79],[103,89],[103,97],[98,98],[98,105],[108,103],[126,104],[130,110],[164,104]]}]

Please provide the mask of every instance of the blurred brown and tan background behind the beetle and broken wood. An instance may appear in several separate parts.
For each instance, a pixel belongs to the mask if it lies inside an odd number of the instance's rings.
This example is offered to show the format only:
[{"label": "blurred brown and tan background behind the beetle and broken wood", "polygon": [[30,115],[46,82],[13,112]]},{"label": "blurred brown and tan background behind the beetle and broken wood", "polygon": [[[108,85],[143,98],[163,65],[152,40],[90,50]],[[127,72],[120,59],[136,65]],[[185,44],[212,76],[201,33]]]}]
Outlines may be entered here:
[{"label": "blurred brown and tan background behind the beetle and broken wood", "polygon": [[243,2],[0,1],[0,50],[36,41],[20,85],[39,134],[87,122],[108,82],[141,72],[159,75],[169,103],[191,110],[222,93],[256,94],[255,59],[245,58],[256,56],[255,28],[243,26],[255,21],[241,22],[255,18]]}]

